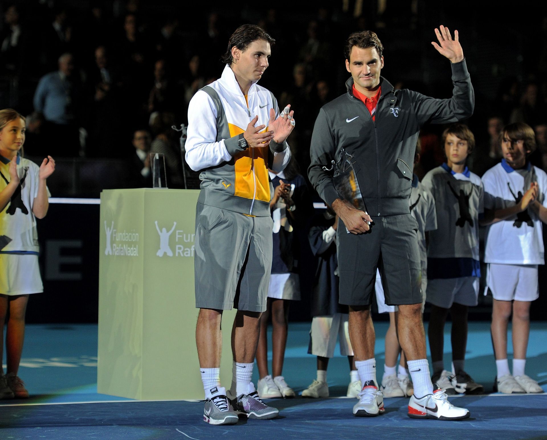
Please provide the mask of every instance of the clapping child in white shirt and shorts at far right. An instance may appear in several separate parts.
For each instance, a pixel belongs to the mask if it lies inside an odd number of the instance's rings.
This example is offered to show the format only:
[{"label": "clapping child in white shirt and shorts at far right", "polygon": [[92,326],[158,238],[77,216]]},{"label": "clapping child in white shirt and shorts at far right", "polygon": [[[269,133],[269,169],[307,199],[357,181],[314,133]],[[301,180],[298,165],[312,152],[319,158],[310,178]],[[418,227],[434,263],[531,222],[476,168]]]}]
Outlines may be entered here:
[{"label": "clapping child in white shirt and shorts at far right", "polygon": [[[547,222],[547,174],[527,157],[536,149],[531,127],[504,128],[503,160],[482,177],[485,189],[486,283],[492,292],[492,343],[497,376],[494,391],[543,392],[524,373],[530,333],[529,309],[539,296],[538,265],[543,265],[543,223]],[[507,360],[507,326],[513,313],[513,375]]]}]

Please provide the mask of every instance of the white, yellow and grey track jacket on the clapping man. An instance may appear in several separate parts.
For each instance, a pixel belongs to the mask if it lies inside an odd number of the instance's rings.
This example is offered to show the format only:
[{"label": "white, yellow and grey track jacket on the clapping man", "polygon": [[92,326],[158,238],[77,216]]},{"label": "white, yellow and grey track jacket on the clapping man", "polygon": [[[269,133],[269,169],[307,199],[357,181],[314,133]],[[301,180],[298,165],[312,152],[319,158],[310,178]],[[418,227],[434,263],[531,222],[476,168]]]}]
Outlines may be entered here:
[{"label": "white, yellow and grey track jacket on the clapping man", "polygon": [[185,157],[191,169],[201,171],[200,203],[247,215],[270,216],[268,167],[276,172],[285,168],[290,160],[288,144],[272,141],[264,148],[242,150],[237,141],[255,115],[256,126],[266,125],[267,131],[271,108],[277,118],[274,95],[253,84],[246,99],[229,66],[220,79],[191,99]]}]

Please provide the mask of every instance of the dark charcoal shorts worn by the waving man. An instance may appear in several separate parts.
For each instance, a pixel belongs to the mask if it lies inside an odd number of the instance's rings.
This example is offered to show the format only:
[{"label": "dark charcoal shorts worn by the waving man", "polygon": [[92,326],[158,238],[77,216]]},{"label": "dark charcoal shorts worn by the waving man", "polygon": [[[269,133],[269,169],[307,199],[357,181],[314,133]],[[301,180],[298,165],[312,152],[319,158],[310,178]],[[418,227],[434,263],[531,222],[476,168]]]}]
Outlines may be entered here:
[{"label": "dark charcoal shorts worn by the waving man", "polygon": [[422,302],[418,224],[410,214],[372,217],[364,234],[346,233],[340,220],[337,228],[340,304],[369,306],[376,268],[380,269],[388,306]]}]

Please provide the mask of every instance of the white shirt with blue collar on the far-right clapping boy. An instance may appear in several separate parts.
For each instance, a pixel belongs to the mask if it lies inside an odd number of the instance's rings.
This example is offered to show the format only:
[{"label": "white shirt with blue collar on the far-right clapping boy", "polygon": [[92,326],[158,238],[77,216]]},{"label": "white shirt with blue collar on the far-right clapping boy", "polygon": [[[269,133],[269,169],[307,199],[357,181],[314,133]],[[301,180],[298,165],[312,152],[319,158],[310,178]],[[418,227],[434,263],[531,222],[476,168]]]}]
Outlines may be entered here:
[{"label": "white shirt with blue collar on the far-right clapping boy", "polygon": [[[537,200],[547,208],[547,174],[529,162],[524,168],[514,169],[505,159],[482,176],[485,209],[503,209],[515,206],[530,184],[537,181]],[[532,209],[498,221],[486,229],[486,263],[511,265],[543,265],[543,223]]]}]

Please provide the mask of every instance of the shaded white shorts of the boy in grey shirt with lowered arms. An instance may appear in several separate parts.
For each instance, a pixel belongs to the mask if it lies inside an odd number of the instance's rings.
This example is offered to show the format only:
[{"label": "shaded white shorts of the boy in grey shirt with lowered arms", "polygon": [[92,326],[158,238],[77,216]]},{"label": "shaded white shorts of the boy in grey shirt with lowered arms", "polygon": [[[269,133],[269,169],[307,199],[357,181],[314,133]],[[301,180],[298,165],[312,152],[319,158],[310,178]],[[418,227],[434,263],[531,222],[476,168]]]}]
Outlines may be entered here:
[{"label": "shaded white shorts of the boy in grey shirt with lowered arms", "polygon": [[453,303],[476,306],[479,297],[479,278],[436,278],[427,280],[427,302],[449,309]]}]

